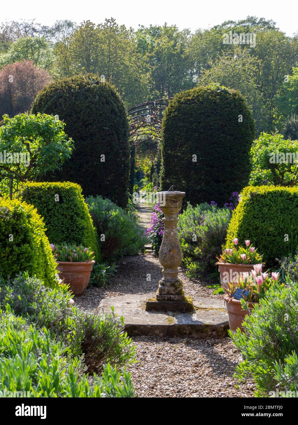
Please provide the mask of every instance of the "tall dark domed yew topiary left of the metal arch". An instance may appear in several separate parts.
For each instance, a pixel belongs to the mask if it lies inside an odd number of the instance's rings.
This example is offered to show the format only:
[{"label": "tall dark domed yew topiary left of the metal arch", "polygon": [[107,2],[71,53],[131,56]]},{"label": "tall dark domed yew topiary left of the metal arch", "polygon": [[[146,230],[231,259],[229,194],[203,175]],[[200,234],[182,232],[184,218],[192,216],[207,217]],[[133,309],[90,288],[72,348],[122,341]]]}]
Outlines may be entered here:
[{"label": "tall dark domed yew topiary left of the metal arch", "polygon": [[126,207],[128,120],[115,89],[92,74],[64,78],[37,95],[32,113],[37,112],[59,115],[74,140],[71,159],[49,180],[78,183],[85,196],[102,195]]}]

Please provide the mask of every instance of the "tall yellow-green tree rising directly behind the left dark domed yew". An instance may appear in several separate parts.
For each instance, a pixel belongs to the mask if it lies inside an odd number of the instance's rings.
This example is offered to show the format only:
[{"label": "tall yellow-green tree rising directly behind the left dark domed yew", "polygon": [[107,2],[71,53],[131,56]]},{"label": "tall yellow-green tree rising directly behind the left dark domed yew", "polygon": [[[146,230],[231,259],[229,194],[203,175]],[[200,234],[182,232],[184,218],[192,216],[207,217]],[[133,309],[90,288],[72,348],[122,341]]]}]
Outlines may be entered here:
[{"label": "tall yellow-green tree rising directly behind the left dark domed yew", "polygon": [[94,73],[115,85],[127,106],[147,100],[147,77],[136,53],[131,29],[114,19],[95,26],[84,21],[74,33],[57,45],[57,64],[66,76]]}]

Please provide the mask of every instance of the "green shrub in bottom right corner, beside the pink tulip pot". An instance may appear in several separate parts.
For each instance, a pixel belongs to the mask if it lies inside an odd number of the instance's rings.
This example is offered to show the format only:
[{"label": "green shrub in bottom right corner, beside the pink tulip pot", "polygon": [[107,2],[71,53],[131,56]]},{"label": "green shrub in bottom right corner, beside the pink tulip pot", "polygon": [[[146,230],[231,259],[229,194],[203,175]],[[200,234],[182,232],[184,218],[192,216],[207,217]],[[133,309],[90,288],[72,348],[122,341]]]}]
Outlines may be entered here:
[{"label": "green shrub in bottom right corner, beside the pink tulip pot", "polygon": [[261,397],[275,394],[276,388],[279,397],[298,391],[297,309],[298,284],[275,286],[245,316],[245,333],[230,333],[244,358],[236,369],[238,378],[253,377]]}]

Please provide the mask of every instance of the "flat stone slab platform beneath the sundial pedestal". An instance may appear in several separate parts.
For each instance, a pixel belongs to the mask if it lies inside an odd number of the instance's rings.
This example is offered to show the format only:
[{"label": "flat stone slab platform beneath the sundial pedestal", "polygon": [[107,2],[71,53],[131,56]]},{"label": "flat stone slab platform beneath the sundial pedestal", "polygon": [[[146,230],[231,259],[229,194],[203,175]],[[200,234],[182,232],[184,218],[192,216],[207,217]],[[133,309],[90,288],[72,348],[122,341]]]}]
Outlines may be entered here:
[{"label": "flat stone slab platform beneath the sundial pedestal", "polygon": [[124,316],[125,331],[129,336],[189,337],[195,339],[227,336],[229,322],[224,301],[196,297],[194,311],[150,312],[145,310],[146,299],[152,295],[122,295],[105,298],[99,304],[99,314],[111,313],[114,306],[117,320]]}]

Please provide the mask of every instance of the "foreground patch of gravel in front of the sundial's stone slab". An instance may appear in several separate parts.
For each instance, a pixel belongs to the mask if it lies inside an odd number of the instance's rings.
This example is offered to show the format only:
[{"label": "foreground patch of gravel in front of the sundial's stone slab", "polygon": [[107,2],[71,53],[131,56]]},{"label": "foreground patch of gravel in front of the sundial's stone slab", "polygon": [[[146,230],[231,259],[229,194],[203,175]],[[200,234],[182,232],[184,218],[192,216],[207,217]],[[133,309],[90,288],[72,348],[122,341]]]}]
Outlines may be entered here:
[{"label": "foreground patch of gravel in front of the sundial's stone slab", "polygon": [[229,338],[133,338],[128,368],[138,397],[253,397],[253,382],[233,378],[240,354]]}]

